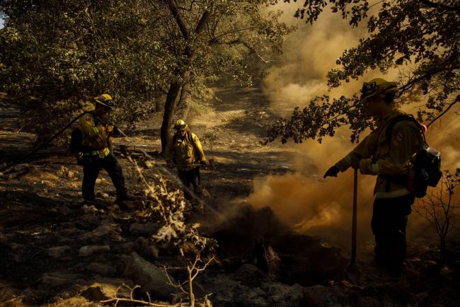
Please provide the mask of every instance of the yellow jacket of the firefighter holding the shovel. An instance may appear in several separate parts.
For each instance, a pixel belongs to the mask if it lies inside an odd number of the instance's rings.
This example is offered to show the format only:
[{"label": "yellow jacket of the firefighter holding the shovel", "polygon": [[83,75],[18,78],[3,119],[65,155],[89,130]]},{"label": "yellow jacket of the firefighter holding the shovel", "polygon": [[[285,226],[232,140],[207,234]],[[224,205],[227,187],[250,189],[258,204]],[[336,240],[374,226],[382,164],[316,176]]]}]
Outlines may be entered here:
[{"label": "yellow jacket of the firefighter holding the shovel", "polygon": [[377,175],[374,197],[393,198],[408,195],[406,188],[408,161],[423,146],[420,128],[414,122],[401,120],[391,129],[391,137],[387,139],[386,127],[394,117],[405,115],[393,110],[379,120],[376,129],[365,137],[350,154],[335,164],[340,171],[350,168],[352,157],[361,156],[360,173]]}]

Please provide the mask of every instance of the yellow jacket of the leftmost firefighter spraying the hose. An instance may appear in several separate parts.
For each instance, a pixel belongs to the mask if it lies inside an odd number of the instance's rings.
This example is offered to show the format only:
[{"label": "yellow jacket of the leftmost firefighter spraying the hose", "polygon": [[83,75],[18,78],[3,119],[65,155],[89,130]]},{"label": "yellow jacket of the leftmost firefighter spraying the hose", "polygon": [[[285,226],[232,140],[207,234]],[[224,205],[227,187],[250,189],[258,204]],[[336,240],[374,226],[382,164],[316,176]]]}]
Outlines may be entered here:
[{"label": "yellow jacket of the leftmost firefighter spraying the hose", "polygon": [[[101,158],[107,156],[110,153],[110,128],[102,122],[102,120],[96,120],[95,116],[90,113],[86,113],[79,120],[79,127],[83,132],[82,144],[91,152],[88,154],[98,154]],[[100,118],[103,119],[102,115]],[[105,119],[106,120],[106,119]]]}]

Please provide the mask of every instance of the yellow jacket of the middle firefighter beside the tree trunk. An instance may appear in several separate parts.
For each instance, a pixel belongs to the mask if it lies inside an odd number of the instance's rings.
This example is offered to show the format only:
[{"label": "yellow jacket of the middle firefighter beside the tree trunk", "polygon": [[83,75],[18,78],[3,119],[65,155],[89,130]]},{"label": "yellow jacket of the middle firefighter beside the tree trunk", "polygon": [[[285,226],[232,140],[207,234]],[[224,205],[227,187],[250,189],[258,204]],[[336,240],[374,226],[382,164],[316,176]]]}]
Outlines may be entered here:
[{"label": "yellow jacket of the middle firefighter beside the tree trunk", "polygon": [[[193,139],[190,139],[190,137]],[[193,148],[195,144],[195,149]],[[206,161],[205,152],[198,139],[193,132],[187,132],[184,139],[180,137],[172,137],[166,145],[164,158],[166,162],[174,161],[178,165],[179,170],[191,170],[196,166],[188,166],[200,161]]]}]

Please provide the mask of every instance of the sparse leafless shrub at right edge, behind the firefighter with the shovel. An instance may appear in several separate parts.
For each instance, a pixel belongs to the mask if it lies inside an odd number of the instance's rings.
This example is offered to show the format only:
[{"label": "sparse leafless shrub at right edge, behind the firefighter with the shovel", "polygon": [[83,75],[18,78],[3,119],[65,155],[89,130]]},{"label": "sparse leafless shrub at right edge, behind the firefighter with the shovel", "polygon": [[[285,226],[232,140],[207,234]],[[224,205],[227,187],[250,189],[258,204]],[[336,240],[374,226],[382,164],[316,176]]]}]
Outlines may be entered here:
[{"label": "sparse leafless shrub at right edge, behind the firefighter with the shovel", "polygon": [[418,200],[415,211],[423,216],[432,226],[435,227],[439,238],[439,250],[441,261],[447,252],[447,241],[456,224],[456,212],[460,208],[460,200],[454,199],[454,190],[460,184],[460,169],[452,174],[444,170],[441,184],[428,192],[427,195]]}]

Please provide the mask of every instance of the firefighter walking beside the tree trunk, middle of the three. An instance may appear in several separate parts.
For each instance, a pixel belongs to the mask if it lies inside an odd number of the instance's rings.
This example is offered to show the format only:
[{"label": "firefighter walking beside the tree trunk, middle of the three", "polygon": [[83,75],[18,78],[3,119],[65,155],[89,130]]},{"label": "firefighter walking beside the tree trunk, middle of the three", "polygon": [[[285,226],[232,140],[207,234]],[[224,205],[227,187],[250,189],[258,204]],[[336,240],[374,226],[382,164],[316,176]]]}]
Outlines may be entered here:
[{"label": "firefighter walking beside the tree trunk, middle of the three", "polygon": [[[166,164],[171,169],[176,164],[179,179],[185,187],[185,198],[196,203],[197,199],[202,199],[200,166],[207,167],[205,153],[197,135],[188,129],[183,120],[177,120],[174,129],[176,134],[168,141],[165,149]],[[195,197],[190,193],[190,186]]]}]

